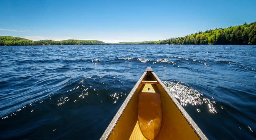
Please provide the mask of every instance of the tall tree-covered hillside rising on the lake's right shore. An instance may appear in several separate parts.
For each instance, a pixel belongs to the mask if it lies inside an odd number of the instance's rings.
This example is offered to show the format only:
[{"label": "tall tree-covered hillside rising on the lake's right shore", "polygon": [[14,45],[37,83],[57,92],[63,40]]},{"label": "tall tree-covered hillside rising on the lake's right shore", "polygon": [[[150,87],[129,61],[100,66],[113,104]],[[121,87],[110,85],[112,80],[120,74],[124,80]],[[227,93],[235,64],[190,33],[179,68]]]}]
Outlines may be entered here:
[{"label": "tall tree-covered hillside rising on the lake's right shore", "polygon": [[160,44],[220,44],[220,45],[251,45],[256,44],[256,22],[243,25],[207,30],[190,34],[185,37],[171,38]]}]

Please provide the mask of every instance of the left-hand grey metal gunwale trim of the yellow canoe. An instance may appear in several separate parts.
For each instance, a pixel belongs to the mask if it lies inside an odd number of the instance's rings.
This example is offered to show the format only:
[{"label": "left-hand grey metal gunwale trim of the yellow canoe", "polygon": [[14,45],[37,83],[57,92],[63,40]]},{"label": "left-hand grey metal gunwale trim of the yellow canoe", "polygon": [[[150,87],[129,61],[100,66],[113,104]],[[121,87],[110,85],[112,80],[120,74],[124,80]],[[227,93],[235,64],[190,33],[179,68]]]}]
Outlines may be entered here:
[{"label": "left-hand grey metal gunwale trim of the yellow canoe", "polygon": [[[150,67],[149,67],[150,68]],[[119,118],[121,117],[121,115],[123,114],[125,108],[127,107],[129,101],[131,100],[132,96],[134,95],[135,91],[137,90],[137,88],[139,87],[139,84],[141,84],[142,79],[146,76],[147,71],[145,71],[142,76],[139,78],[138,82],[134,85],[134,87],[132,88],[132,90],[130,91],[130,93],[128,94],[128,96],[126,97],[126,99],[124,100],[124,103],[122,104],[122,106],[119,108],[119,110],[117,111],[116,115],[114,116],[114,118],[112,119],[112,121],[110,122],[109,126],[107,127],[107,129],[105,130],[105,132],[102,134],[100,140],[107,140],[110,136],[110,134],[112,133],[114,127],[117,125],[117,122],[119,120]]]}]

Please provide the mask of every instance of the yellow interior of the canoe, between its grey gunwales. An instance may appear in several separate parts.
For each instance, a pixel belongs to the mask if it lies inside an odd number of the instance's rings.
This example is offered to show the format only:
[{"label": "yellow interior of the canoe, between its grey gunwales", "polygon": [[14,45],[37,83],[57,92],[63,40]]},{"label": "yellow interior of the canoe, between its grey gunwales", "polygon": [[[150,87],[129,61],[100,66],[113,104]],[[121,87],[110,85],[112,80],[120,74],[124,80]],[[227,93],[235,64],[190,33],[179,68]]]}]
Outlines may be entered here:
[{"label": "yellow interior of the canoe, between its grey gunwales", "polygon": [[[137,90],[130,98],[113,129],[109,131],[110,135],[107,136],[107,139],[200,139],[172,98],[166,93],[162,84],[158,83],[161,81],[157,80],[154,76],[155,74],[152,73],[154,72],[144,72],[140,79],[140,84],[137,85]],[[141,82],[141,80],[158,82],[150,84]],[[149,99],[145,99],[143,96],[147,92],[152,94]],[[143,103],[147,101],[152,103],[154,102],[152,98],[155,97],[159,97],[159,99],[155,100],[155,105],[150,107],[139,106],[139,103],[141,103],[139,99],[143,99]],[[151,122],[154,122],[154,125],[145,127],[144,125],[150,122],[150,119],[152,120]]]}]

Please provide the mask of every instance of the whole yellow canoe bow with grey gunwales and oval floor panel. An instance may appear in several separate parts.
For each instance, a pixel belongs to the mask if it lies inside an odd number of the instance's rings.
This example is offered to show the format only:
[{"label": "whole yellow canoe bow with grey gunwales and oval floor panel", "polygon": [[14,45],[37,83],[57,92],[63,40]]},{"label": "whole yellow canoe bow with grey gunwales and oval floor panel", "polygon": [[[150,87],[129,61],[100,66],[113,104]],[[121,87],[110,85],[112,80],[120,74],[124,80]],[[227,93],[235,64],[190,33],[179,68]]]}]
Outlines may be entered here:
[{"label": "whole yellow canoe bow with grey gunwales and oval floor panel", "polygon": [[207,140],[207,137],[147,67],[100,139]]}]

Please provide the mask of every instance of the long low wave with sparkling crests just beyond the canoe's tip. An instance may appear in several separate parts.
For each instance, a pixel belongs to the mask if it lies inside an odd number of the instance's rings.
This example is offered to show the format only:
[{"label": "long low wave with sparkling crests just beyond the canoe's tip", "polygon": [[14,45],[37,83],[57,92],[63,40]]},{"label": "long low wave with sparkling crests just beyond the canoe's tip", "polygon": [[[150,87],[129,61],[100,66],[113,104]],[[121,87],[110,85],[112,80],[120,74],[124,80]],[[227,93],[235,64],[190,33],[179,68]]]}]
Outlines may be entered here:
[{"label": "long low wave with sparkling crests just beyond the canoe's tip", "polygon": [[[167,56],[165,56],[167,57]],[[205,65],[207,67],[213,66],[213,65],[237,65],[240,67],[244,67],[240,62],[233,62],[233,61],[215,61],[215,60],[209,60],[209,59],[193,59],[193,58],[186,58],[186,57],[179,57],[179,56],[168,56],[169,58],[173,58],[173,59],[157,59],[157,60],[150,60],[147,58],[140,58],[140,57],[125,57],[125,58],[114,58],[114,59],[109,59],[109,60],[105,60],[102,61],[100,59],[40,59],[40,60],[14,60],[14,63],[18,63],[19,65],[21,64],[27,64],[27,63],[62,63],[65,65],[69,65],[72,63],[86,63],[86,62],[93,62],[93,63],[97,63],[97,62],[102,62],[102,64],[115,64],[115,63],[125,63],[125,62],[134,62],[134,63],[147,63],[147,64],[161,64],[161,63],[166,63],[166,64],[171,64],[171,65],[175,65],[175,66],[179,66],[182,67],[184,66],[184,64],[196,64],[196,65]],[[247,68],[248,69],[248,68]],[[249,68],[249,69],[253,69],[253,68]],[[254,70],[253,70],[254,71]]]}]

